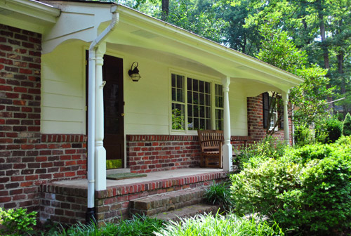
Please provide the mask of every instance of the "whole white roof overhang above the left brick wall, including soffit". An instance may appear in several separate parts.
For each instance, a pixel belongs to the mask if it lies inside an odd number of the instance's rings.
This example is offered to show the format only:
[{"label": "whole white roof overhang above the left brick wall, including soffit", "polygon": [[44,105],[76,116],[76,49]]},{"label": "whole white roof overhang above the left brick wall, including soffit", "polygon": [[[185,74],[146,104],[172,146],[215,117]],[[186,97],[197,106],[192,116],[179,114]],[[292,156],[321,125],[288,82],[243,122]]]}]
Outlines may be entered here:
[{"label": "whole white roof overhang above the left brick wall, including soffit", "polygon": [[59,15],[60,9],[39,1],[0,0],[0,22],[4,25],[42,34]]}]

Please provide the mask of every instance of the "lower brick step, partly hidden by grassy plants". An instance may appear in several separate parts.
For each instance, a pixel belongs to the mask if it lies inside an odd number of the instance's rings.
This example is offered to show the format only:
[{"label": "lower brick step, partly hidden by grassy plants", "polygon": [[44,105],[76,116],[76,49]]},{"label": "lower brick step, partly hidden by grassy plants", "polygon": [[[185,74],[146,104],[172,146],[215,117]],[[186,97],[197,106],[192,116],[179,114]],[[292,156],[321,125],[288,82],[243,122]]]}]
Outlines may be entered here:
[{"label": "lower brick step, partly hidden by grassy plants", "polygon": [[212,213],[216,214],[220,206],[208,204],[195,204],[192,206],[185,206],[173,211],[166,211],[164,213],[150,216],[151,218],[158,218],[164,221],[180,221],[181,218],[193,217],[197,214]]}]

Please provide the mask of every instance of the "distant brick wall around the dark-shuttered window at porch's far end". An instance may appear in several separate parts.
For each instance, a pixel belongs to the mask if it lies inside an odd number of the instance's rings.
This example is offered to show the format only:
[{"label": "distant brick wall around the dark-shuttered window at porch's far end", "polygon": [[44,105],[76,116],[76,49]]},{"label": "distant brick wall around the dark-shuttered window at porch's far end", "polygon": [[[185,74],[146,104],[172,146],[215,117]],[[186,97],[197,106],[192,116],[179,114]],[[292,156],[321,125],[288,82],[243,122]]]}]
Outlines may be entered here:
[{"label": "distant brick wall around the dark-shuttered window at porch's far end", "polygon": [[[248,135],[251,140],[258,141],[265,138],[265,128],[263,128],[263,96],[247,98],[247,122]],[[291,119],[289,119],[289,133],[291,134]],[[279,140],[284,140],[284,130],[279,130],[273,134]],[[290,143],[292,143],[290,135]]]}]

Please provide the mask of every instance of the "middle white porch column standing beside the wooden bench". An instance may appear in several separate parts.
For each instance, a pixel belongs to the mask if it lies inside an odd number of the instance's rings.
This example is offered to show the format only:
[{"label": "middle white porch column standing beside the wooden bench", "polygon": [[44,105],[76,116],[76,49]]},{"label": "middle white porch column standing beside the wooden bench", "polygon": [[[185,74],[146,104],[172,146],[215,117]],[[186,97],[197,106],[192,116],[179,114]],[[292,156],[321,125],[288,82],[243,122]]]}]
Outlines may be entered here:
[{"label": "middle white porch column standing beside the wooden bench", "polygon": [[224,133],[224,145],[222,148],[223,153],[223,170],[232,171],[232,144],[230,143],[230,109],[229,109],[229,85],[230,77],[222,79],[223,86],[223,133]]}]

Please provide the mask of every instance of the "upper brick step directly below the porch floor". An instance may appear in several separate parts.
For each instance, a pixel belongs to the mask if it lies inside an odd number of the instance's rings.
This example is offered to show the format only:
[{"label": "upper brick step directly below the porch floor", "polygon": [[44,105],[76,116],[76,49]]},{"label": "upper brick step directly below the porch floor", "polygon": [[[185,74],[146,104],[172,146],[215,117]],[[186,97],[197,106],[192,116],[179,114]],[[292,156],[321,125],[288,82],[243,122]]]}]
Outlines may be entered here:
[{"label": "upper brick step directly below the porch floor", "polygon": [[203,202],[204,188],[188,188],[131,200],[131,214],[152,216]]}]

